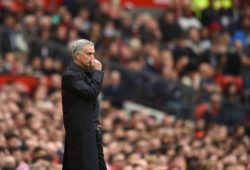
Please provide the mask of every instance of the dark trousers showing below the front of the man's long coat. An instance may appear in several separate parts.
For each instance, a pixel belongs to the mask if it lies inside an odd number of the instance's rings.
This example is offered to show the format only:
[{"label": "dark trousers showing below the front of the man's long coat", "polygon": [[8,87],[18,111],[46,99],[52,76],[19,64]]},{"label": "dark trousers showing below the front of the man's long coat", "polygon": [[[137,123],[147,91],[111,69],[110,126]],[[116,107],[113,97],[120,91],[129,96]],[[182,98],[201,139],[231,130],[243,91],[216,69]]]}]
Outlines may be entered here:
[{"label": "dark trousers showing below the front of the man's long coat", "polygon": [[98,166],[99,170],[107,170],[104,154],[103,154],[103,146],[102,146],[102,130],[100,127],[95,128],[96,132],[96,144],[97,144],[97,152],[98,152]]}]

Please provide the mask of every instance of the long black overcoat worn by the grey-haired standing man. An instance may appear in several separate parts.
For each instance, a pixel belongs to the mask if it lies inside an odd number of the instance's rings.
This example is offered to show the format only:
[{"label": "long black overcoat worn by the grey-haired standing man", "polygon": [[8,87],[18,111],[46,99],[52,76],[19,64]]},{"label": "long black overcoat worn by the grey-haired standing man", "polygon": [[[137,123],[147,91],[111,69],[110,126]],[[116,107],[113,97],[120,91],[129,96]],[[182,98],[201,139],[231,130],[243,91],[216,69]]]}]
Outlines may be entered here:
[{"label": "long black overcoat worn by the grey-haired standing man", "polygon": [[63,170],[98,170],[95,136],[98,94],[103,71],[88,72],[73,61],[62,76],[63,120],[66,131]]}]

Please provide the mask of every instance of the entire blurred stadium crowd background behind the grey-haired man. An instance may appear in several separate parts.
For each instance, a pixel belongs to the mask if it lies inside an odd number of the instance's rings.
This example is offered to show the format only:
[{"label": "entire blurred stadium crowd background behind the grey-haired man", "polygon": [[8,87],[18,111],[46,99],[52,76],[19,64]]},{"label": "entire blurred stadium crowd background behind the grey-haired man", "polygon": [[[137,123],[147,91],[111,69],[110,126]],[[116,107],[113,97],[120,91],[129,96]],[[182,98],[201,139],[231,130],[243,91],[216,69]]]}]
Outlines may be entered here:
[{"label": "entire blurred stadium crowd background behind the grey-haired man", "polygon": [[250,169],[249,0],[0,0],[0,169],[61,169],[81,38],[104,65],[109,170]]}]

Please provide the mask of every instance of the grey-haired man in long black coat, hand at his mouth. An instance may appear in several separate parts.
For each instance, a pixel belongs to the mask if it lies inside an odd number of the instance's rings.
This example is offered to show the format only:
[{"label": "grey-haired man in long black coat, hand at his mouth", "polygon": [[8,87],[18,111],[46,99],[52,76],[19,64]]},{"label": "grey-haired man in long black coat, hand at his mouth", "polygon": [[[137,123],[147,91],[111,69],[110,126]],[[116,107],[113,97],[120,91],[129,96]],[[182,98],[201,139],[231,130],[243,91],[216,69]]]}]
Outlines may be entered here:
[{"label": "grey-haired man in long black coat, hand at his mouth", "polygon": [[91,41],[72,47],[73,60],[62,76],[63,119],[66,131],[63,170],[106,170],[99,124],[102,64]]}]

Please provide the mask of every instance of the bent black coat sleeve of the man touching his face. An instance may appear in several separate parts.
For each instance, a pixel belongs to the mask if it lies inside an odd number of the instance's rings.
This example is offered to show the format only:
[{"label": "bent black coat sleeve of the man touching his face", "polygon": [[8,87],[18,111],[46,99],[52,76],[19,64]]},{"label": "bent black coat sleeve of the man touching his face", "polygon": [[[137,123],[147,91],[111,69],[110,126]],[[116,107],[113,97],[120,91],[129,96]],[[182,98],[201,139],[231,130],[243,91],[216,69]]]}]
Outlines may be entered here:
[{"label": "bent black coat sleeve of the man touching his face", "polygon": [[93,71],[90,81],[86,81],[77,74],[67,74],[63,76],[63,82],[67,89],[88,98],[96,98],[102,88],[103,71]]}]

